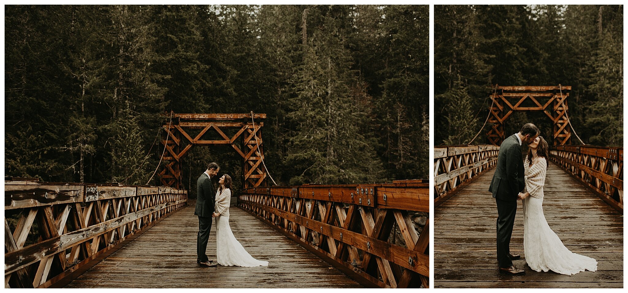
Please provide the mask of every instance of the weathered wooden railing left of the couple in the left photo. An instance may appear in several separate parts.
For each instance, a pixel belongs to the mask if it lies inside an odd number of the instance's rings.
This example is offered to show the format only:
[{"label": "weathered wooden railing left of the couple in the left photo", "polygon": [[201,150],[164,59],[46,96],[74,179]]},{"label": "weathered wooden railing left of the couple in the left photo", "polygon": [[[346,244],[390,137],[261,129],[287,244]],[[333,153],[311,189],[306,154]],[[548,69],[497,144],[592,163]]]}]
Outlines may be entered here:
[{"label": "weathered wooden railing left of the couple in the left photo", "polygon": [[168,213],[170,187],[4,181],[4,287],[50,287]]}]

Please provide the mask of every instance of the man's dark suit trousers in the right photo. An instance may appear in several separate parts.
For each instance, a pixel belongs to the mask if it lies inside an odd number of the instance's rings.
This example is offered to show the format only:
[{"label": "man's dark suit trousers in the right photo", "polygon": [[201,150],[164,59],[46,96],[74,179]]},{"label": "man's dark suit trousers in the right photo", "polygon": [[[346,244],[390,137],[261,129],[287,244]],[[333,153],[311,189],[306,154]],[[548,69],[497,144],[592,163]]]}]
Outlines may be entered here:
[{"label": "man's dark suit trousers in the right photo", "polygon": [[510,253],[514,217],[517,214],[517,201],[495,199],[495,202],[497,203],[497,262],[499,267],[507,268],[512,265],[508,253]]}]

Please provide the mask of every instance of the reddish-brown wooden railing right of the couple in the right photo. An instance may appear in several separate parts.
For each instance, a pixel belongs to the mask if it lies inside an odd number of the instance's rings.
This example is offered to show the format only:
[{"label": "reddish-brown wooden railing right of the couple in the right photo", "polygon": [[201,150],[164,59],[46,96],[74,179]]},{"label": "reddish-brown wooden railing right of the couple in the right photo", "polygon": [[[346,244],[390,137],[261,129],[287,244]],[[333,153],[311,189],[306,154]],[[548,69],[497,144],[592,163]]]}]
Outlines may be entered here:
[{"label": "reddish-brown wooden railing right of the couple in the right photo", "polygon": [[624,148],[553,146],[549,157],[610,206],[624,210]]}]

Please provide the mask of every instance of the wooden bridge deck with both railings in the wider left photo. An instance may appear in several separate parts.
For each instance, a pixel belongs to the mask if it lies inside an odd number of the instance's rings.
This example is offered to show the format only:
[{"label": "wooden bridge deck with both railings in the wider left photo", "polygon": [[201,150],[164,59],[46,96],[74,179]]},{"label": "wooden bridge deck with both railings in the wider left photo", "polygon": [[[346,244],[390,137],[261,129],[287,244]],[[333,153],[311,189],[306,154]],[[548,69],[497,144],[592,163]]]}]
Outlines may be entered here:
[{"label": "wooden bridge deck with both railings in the wider left photo", "polygon": [[417,224],[429,211],[426,180],[245,189],[230,223],[252,256],[269,261],[256,268],[198,267],[187,191],[4,184],[5,287],[429,286],[429,228]]}]

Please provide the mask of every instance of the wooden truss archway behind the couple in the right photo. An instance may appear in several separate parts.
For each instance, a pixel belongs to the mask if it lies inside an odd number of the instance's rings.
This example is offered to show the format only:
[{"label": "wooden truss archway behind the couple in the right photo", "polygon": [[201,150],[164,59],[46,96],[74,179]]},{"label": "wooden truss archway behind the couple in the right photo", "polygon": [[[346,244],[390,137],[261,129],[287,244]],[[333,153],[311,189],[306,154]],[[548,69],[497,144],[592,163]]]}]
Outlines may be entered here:
[{"label": "wooden truss archway behind the couple in the right photo", "polygon": [[[562,92],[561,92],[562,90]],[[543,111],[553,122],[554,145],[571,143],[571,128],[567,118],[567,97],[571,86],[499,86],[490,96],[489,142],[501,145],[506,138],[504,121],[514,111]]]}]

